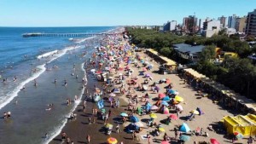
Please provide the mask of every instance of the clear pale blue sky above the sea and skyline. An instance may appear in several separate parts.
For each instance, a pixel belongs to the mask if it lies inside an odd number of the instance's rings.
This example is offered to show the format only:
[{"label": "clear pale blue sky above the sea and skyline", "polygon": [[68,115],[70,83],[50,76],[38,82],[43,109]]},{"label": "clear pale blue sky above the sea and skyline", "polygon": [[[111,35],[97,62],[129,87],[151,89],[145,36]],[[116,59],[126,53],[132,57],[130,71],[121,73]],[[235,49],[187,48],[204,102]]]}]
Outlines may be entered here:
[{"label": "clear pale blue sky above the sea and skyline", "polygon": [[253,9],[256,0],[0,0],[0,26],[162,26]]}]

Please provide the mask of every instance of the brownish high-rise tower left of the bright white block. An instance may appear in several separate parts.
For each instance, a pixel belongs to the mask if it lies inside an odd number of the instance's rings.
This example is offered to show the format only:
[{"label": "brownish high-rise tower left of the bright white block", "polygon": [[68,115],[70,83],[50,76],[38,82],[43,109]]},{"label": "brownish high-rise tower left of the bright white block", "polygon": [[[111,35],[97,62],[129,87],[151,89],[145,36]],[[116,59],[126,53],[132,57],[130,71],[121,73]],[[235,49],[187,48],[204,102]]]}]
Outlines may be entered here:
[{"label": "brownish high-rise tower left of the bright white block", "polygon": [[197,18],[192,15],[189,15],[189,17],[183,18],[183,26],[185,28],[185,32],[188,33],[195,33],[198,30],[197,26]]}]

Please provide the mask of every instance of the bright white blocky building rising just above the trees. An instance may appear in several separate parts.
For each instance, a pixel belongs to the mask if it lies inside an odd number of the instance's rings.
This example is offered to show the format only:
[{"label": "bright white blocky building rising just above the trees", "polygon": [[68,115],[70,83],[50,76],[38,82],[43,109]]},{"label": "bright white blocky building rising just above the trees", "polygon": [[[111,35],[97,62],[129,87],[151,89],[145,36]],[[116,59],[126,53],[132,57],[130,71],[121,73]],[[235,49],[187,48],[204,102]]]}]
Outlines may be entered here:
[{"label": "bright white blocky building rising just above the trees", "polygon": [[203,24],[202,35],[204,37],[212,37],[214,34],[218,34],[220,31],[220,21],[219,20],[210,20],[206,21]]}]

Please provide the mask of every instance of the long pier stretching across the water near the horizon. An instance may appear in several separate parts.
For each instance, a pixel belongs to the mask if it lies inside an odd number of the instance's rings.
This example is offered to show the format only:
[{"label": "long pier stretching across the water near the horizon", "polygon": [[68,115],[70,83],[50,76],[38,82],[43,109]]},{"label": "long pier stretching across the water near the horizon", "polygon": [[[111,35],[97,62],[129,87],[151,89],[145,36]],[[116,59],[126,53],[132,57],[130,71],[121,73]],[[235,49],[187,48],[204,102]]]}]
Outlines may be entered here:
[{"label": "long pier stretching across the water near the horizon", "polygon": [[23,33],[22,37],[93,37],[93,36],[113,36],[122,33]]}]

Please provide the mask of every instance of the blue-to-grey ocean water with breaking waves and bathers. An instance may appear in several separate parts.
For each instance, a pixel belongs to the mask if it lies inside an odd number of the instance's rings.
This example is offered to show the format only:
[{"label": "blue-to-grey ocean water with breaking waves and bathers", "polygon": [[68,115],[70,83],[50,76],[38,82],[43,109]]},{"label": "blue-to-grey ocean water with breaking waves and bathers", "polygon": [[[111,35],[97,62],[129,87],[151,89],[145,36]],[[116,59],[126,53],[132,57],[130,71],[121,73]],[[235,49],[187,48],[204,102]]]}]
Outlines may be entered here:
[{"label": "blue-to-grey ocean water with breaking waves and bathers", "polygon": [[[82,87],[82,78],[86,79],[84,61],[101,40],[101,37],[72,37],[71,41],[71,37],[21,37],[21,34],[100,33],[114,28],[0,27],[0,113],[11,112],[11,118],[0,119],[1,143],[48,143],[61,132],[86,89]],[[73,101],[75,95],[79,100]],[[70,106],[67,99],[73,101]],[[54,106],[48,110],[51,103]]]}]

